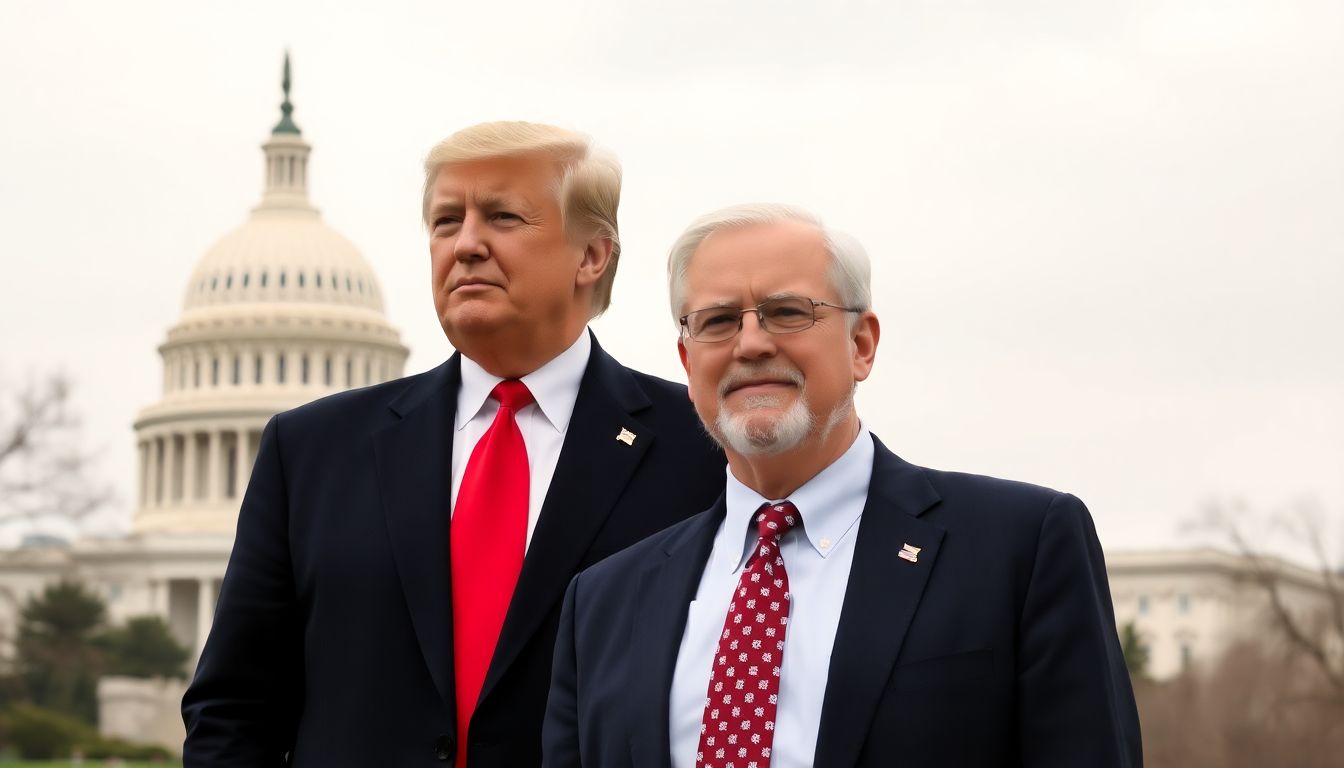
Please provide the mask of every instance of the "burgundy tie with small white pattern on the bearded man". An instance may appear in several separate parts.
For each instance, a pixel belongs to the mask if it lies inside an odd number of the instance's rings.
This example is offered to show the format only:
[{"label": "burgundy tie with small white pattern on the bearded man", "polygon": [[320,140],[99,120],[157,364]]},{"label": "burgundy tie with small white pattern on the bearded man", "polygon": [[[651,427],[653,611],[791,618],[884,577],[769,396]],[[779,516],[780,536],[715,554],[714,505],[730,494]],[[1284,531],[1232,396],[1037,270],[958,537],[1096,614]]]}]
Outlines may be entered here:
[{"label": "burgundy tie with small white pattern on the bearded man", "polygon": [[789,574],[780,539],[801,522],[790,502],[757,510],[755,551],[742,569],[710,673],[695,764],[767,768],[780,702],[784,632],[789,624]]}]

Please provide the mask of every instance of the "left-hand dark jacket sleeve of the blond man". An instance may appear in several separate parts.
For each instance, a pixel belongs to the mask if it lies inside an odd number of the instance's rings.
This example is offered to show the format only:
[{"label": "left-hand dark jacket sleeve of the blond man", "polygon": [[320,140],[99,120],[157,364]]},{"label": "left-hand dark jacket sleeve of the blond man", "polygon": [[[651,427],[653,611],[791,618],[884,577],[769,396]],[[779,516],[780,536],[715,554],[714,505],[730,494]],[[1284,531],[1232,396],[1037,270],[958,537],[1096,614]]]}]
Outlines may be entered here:
[{"label": "left-hand dark jacket sleeve of the blond man", "polygon": [[262,433],[210,639],[183,697],[184,768],[284,765],[302,691],[280,417]]}]

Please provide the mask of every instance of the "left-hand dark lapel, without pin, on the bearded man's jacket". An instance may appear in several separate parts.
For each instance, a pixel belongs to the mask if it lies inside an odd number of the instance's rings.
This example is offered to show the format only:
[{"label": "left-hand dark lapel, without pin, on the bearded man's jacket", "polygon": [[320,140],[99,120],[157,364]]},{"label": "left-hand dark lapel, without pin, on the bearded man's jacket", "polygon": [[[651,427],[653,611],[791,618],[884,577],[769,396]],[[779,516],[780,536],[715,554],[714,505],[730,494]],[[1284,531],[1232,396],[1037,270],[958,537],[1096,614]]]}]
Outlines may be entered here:
[{"label": "left-hand dark lapel, without pin, on the bearded man's jacket", "polygon": [[663,547],[661,557],[650,558],[649,568],[640,574],[629,651],[638,658],[630,664],[630,717],[624,718],[632,724],[634,765],[671,767],[672,674],[685,632],[687,607],[700,586],[724,508],[720,495],[712,507],[687,522],[680,535]]}]

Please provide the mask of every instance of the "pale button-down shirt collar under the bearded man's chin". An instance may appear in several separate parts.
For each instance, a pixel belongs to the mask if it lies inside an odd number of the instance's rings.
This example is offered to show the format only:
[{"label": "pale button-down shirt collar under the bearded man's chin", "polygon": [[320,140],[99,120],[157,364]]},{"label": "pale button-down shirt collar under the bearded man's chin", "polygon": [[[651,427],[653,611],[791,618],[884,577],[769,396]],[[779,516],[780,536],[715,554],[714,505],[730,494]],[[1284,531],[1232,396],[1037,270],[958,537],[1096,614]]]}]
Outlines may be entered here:
[{"label": "pale button-down shirt collar under the bearded man's chin", "polygon": [[[848,451],[797,491],[789,494],[788,500],[798,507],[798,514],[802,516],[804,535],[821,557],[835,551],[836,545],[853,530],[853,523],[863,515],[863,507],[868,500],[868,483],[872,480],[874,453],[872,437],[868,429],[860,424],[859,434],[849,444]],[[766,499],[757,494],[738,480],[731,468],[727,475],[724,526],[728,526],[730,531],[742,531],[745,537],[742,555],[732,562],[735,573],[746,565],[747,555],[755,546],[754,512],[761,508],[761,504],[785,499]]]}]

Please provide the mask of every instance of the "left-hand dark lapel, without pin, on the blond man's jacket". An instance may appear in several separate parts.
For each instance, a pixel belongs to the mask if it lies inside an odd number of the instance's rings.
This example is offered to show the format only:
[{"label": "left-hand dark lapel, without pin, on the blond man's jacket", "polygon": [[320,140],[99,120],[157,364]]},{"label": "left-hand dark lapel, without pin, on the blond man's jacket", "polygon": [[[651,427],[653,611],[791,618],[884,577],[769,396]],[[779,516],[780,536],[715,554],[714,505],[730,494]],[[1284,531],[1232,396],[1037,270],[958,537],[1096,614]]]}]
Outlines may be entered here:
[{"label": "left-hand dark lapel, without pin, on the blond man's jacket", "polygon": [[[461,359],[423,377],[390,408],[395,424],[374,433],[374,457],[387,534],[421,652],[449,712],[453,698],[453,609],[449,582],[449,506],[453,414]],[[414,416],[411,416],[414,412]]]}]

